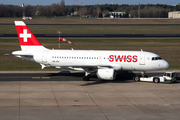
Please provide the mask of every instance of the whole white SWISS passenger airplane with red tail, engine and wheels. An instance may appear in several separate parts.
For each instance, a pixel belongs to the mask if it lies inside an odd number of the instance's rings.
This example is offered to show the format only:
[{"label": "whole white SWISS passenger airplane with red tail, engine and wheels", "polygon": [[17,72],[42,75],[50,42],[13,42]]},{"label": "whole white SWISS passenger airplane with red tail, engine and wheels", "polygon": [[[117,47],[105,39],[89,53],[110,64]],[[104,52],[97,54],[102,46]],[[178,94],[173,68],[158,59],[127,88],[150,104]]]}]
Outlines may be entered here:
[{"label": "whole white SWISS passenger airplane with red tail, engine and wheels", "polygon": [[152,52],[113,51],[113,50],[54,50],[45,48],[23,21],[14,21],[21,50],[12,55],[39,63],[45,67],[55,67],[84,71],[84,81],[90,79],[91,73],[96,73],[99,79],[114,80],[120,71],[163,70],[169,67],[167,61]]}]

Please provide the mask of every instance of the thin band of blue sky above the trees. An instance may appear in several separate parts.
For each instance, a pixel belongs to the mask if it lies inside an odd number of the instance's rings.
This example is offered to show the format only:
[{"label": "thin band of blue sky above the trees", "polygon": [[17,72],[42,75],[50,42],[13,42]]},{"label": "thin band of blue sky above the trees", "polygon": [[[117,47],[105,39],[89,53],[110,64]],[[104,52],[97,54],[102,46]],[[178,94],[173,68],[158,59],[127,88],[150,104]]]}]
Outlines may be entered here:
[{"label": "thin band of blue sky above the trees", "polygon": [[[51,5],[52,3],[59,3],[61,0],[0,0],[0,4],[12,4],[21,5],[31,4],[31,5]],[[77,1],[77,2],[76,2]],[[177,5],[180,0],[65,0],[66,5],[95,5],[95,4],[168,4]]]}]

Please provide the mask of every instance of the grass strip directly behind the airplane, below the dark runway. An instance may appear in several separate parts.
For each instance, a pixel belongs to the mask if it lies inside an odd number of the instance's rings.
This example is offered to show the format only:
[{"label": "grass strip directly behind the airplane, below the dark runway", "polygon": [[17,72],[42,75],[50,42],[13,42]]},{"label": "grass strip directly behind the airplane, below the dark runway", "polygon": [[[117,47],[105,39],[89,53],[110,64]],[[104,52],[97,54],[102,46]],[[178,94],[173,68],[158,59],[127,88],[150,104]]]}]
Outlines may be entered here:
[{"label": "grass strip directly behind the airplane, below the dark runway", "polygon": [[[57,39],[39,39],[49,49],[58,48]],[[169,62],[169,70],[180,69],[180,39],[69,39],[75,45],[61,42],[61,49],[75,50],[136,50],[149,51],[160,55]],[[22,60],[6,53],[20,50],[18,39],[0,39],[0,71],[41,71],[37,63]],[[59,70],[45,68],[42,71]]]}]

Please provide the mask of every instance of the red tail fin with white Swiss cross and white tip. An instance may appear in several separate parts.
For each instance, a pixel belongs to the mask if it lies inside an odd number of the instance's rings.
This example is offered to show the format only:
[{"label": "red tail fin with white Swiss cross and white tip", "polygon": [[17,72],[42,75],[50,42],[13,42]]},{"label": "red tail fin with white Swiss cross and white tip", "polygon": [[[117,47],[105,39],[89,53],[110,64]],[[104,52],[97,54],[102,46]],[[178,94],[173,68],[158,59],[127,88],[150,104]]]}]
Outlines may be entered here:
[{"label": "red tail fin with white Swiss cross and white tip", "polygon": [[46,49],[23,21],[14,21],[22,51]]}]

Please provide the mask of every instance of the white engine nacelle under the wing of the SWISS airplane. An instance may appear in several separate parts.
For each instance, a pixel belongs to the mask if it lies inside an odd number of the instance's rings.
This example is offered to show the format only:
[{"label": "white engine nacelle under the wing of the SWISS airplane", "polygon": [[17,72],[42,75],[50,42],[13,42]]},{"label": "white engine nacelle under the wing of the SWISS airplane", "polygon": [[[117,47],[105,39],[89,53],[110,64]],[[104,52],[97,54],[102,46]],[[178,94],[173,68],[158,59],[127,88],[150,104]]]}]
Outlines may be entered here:
[{"label": "white engine nacelle under the wing of the SWISS airplane", "polygon": [[116,78],[116,73],[114,69],[98,69],[96,73],[99,79],[103,80],[114,80]]}]

